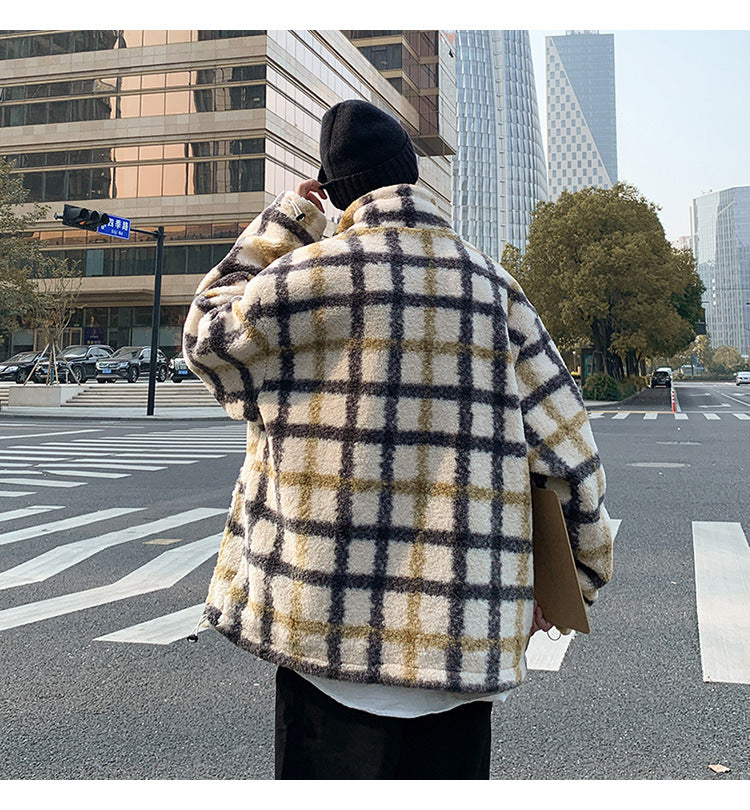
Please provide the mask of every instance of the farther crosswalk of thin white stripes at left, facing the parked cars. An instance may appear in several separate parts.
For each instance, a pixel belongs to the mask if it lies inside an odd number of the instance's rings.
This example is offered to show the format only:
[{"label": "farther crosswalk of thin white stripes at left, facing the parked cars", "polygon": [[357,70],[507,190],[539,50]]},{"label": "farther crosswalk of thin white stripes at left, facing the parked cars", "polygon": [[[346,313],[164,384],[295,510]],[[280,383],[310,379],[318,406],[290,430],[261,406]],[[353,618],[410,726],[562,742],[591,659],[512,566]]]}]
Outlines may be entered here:
[{"label": "farther crosswalk of thin white stripes at left, facing the parked cars", "polygon": [[96,430],[79,432],[84,435],[54,431],[47,436],[18,435],[0,447],[0,504],[9,498],[74,491],[93,481],[114,482],[135,473],[179,469],[245,453],[243,424],[115,436]]}]

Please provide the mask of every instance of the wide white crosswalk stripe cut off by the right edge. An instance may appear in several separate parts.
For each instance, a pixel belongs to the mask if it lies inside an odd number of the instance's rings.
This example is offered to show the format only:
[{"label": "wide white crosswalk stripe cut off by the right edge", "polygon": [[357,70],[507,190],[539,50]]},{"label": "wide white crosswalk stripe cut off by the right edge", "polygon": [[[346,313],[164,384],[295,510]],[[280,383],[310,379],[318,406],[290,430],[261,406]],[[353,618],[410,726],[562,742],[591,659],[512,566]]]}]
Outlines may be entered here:
[{"label": "wide white crosswalk stripe cut off by the right edge", "polygon": [[693,521],[703,680],[750,683],[750,548],[740,523]]}]

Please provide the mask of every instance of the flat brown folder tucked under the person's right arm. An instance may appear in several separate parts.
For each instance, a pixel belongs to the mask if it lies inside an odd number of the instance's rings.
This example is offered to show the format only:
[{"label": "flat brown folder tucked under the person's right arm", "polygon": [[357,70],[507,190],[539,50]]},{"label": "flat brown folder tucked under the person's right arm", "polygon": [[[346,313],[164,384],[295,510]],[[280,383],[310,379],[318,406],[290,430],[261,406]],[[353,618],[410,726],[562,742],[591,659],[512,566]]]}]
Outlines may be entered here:
[{"label": "flat brown folder tucked under the person's right arm", "polygon": [[573,551],[556,492],[531,489],[534,545],[534,598],[556,627],[591,632],[576,576]]}]

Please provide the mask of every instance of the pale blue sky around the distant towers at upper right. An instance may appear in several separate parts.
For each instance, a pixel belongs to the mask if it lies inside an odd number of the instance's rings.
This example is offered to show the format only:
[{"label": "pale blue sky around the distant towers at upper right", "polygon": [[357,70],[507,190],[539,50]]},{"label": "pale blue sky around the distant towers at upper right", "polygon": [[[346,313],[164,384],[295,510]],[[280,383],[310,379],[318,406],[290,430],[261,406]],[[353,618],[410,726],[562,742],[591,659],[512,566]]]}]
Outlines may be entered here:
[{"label": "pale blue sky around the distant towers at upper right", "polygon": [[[619,179],[689,236],[695,197],[750,185],[750,30],[586,30],[614,34]],[[544,41],[565,30],[529,33],[546,148]]]}]

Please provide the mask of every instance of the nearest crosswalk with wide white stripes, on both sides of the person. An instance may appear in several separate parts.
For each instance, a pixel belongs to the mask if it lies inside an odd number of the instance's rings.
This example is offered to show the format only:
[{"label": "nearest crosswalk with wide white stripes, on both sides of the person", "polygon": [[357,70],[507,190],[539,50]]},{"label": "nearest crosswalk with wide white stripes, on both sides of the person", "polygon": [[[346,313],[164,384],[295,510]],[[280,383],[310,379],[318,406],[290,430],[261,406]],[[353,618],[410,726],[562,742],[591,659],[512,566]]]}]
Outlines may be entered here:
[{"label": "nearest crosswalk with wide white stripes, on both sides of the person", "polygon": [[[97,607],[123,600],[149,600],[215,558],[225,508],[192,509],[149,516],[140,508],[111,508],[72,514],[69,507],[39,504],[0,511],[0,561],[3,548],[19,550],[20,561],[0,563],[0,637],[21,627],[90,611],[91,640],[107,644],[168,645],[190,635],[200,618],[210,566],[189,604],[145,621],[128,623],[97,616]],[[615,536],[627,521],[613,520]],[[700,636],[700,666],[706,682],[750,683],[750,547],[739,523],[694,521],[695,620]],[[179,539],[178,539],[179,538]],[[139,543],[140,564],[117,570],[93,587],[38,598],[39,583],[52,582],[74,566],[107,561],[125,544]],[[619,545],[619,541],[616,546]],[[24,555],[33,548],[31,555]],[[121,560],[123,555],[117,557]],[[121,564],[120,564],[121,565]],[[204,581],[205,580],[205,581]],[[69,581],[69,580],[66,580]],[[86,583],[87,576],[81,581]],[[139,603],[132,603],[139,605]],[[146,601],[146,605],[151,604]],[[107,612],[106,616],[112,616]],[[143,613],[140,612],[142,616]],[[124,613],[123,613],[124,616]],[[596,626],[594,626],[596,633]],[[530,670],[556,672],[576,644],[575,632],[554,639],[536,633],[527,650]]]}]

